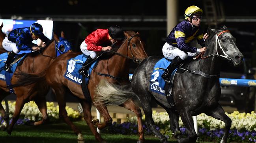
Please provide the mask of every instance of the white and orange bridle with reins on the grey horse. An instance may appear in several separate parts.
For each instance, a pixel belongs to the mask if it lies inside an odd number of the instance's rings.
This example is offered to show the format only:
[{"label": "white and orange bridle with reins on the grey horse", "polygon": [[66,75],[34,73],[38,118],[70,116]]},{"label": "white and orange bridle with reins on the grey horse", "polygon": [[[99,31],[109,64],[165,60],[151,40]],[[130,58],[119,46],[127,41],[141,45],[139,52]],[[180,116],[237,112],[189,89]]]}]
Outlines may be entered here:
[{"label": "white and orange bridle with reins on the grey horse", "polygon": [[[228,61],[230,61],[230,60],[233,59],[233,58],[230,58],[230,56],[228,56],[228,54],[226,54],[226,52],[223,50],[222,46],[220,45],[219,36],[220,36],[222,33],[226,33],[226,32],[229,32],[229,33],[230,33],[230,31],[225,30],[225,31],[220,32],[219,34],[215,34],[216,52],[217,52],[217,54],[210,54],[210,55],[208,55],[208,56],[203,57],[204,52],[202,52],[202,54],[201,54],[201,58],[202,58],[202,59],[206,59],[206,58],[209,58],[210,56],[214,56],[214,55],[217,55],[217,56],[221,56],[221,57],[223,57],[223,58],[226,58]],[[221,55],[221,54],[218,53],[218,45],[219,45],[220,49],[222,50],[222,52],[224,53],[224,55]]]}]

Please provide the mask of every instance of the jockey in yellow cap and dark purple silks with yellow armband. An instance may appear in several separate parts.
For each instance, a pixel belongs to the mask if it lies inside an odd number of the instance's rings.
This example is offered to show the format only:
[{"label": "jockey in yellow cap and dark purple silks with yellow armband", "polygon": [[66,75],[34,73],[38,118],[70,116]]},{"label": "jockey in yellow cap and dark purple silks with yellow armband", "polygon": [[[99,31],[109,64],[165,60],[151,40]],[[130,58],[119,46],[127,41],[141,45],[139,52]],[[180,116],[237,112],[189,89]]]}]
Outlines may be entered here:
[{"label": "jockey in yellow cap and dark purple silks with yellow armband", "polygon": [[[166,38],[163,46],[164,57],[172,60],[170,65],[164,71],[162,78],[166,82],[170,82],[170,75],[188,56],[196,56],[197,53],[206,50],[204,46],[205,40],[208,38],[207,33],[203,35],[200,30],[200,21],[202,19],[203,10],[192,5],[185,11],[184,21],[177,24]],[[197,39],[202,48],[197,49],[191,47],[189,43],[193,39]]]}]

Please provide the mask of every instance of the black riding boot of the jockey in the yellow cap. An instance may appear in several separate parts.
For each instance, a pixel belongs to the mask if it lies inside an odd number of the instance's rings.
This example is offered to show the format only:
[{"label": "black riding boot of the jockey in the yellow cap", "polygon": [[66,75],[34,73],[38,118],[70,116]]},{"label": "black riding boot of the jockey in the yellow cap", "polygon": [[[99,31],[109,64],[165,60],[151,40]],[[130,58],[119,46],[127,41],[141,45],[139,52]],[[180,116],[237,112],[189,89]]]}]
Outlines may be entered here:
[{"label": "black riding boot of the jockey in the yellow cap", "polygon": [[181,63],[183,62],[183,60],[179,57],[176,56],[172,62],[170,63],[170,65],[168,65],[167,69],[164,71],[162,78],[164,79],[164,81],[170,83],[171,80],[171,74],[174,71],[174,69],[176,69]]}]

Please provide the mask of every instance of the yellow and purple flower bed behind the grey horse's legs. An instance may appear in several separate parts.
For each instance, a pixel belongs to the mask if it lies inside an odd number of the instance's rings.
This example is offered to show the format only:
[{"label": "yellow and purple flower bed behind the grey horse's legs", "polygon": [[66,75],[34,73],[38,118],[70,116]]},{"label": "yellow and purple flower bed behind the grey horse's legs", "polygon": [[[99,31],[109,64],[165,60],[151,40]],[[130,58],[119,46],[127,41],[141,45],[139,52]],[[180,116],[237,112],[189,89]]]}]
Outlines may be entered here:
[{"label": "yellow and purple flower bed behind the grey horse's legs", "polygon": [[[251,113],[239,113],[235,111],[231,114],[226,113],[232,119],[232,126],[229,132],[228,141],[254,143],[256,142],[256,114]],[[172,137],[170,131],[169,116],[166,112],[152,112],[152,117],[155,121],[157,129],[160,130],[167,138]],[[145,115],[142,116],[142,120],[145,121]],[[198,141],[216,141],[219,142],[224,134],[224,122],[214,119],[206,114],[200,114],[197,116],[198,122]],[[137,134],[138,126],[136,125],[137,118],[132,117],[128,119],[128,122],[123,124],[116,124],[106,129],[105,132],[117,133],[117,134]],[[179,119],[179,125],[181,133],[186,135],[187,130]],[[145,134],[151,134],[151,132],[144,127]]]}]

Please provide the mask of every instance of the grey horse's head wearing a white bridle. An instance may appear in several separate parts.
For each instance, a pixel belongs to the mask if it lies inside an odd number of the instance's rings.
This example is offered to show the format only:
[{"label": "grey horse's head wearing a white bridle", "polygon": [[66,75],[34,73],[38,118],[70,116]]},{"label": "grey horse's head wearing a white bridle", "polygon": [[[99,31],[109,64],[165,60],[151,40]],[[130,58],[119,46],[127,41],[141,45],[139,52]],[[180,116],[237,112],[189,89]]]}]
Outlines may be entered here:
[{"label": "grey horse's head wearing a white bridle", "polygon": [[[235,45],[235,38],[226,26],[220,29],[209,28],[209,38],[206,40],[206,45],[214,42],[217,55],[232,61],[235,66],[238,66],[243,62],[243,54],[239,51]],[[214,48],[215,48],[214,47]],[[208,48],[207,48],[208,49]]]}]

